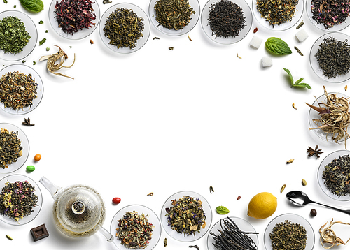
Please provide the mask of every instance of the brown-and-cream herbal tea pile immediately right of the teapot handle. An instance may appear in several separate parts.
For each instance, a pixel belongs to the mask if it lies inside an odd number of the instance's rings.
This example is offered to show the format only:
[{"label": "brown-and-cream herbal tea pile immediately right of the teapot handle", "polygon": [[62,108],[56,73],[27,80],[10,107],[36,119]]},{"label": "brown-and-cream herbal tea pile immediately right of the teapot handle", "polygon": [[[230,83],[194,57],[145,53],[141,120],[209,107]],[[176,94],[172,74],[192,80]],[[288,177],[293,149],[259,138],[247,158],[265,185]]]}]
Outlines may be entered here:
[{"label": "brown-and-cream herbal tea pile immediately right of the teapot handle", "polygon": [[127,212],[118,220],[116,236],[124,247],[139,249],[147,247],[152,239],[153,226],[149,223],[147,215],[137,212]]}]

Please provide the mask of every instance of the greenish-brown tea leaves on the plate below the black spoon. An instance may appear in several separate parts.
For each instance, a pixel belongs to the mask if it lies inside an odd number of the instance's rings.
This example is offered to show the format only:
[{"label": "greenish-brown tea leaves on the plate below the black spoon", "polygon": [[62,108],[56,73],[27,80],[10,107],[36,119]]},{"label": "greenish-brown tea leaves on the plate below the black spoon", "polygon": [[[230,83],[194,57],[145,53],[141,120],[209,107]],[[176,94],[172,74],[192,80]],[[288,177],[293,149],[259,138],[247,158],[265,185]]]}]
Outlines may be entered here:
[{"label": "greenish-brown tea leaves on the plate below the black spoon", "polygon": [[303,250],[306,247],[307,231],[298,223],[286,220],[274,226],[269,234],[272,250]]}]

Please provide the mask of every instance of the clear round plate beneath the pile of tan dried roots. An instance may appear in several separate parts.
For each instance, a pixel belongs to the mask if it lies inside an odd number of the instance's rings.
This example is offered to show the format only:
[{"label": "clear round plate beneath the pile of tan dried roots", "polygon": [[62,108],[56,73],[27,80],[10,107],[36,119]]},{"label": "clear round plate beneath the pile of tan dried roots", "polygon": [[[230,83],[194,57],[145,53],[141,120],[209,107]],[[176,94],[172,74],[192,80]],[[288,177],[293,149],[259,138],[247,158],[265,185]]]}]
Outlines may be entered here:
[{"label": "clear round plate beneath the pile of tan dried roots", "polygon": [[[330,94],[336,94],[337,97],[342,97],[342,98],[349,98],[348,96],[342,94],[342,93],[328,93],[328,95]],[[325,94],[323,94],[322,96],[318,97],[314,103],[312,103],[311,105],[316,106],[316,107],[325,107],[325,105],[318,105],[318,103],[327,103],[327,97],[325,96]],[[322,131],[321,128],[319,129],[314,129],[314,128],[318,128],[318,125],[314,122],[314,119],[320,119],[320,115],[318,115],[318,112],[316,110],[314,110],[313,108],[310,108],[309,110],[309,128],[312,128],[311,131],[314,131],[315,135],[317,135],[318,138],[320,138],[321,140],[325,141],[325,142],[333,142],[335,143],[334,140],[332,140],[332,134],[327,135],[325,132]],[[339,142],[344,142],[344,139],[341,139],[338,141]]]}]

